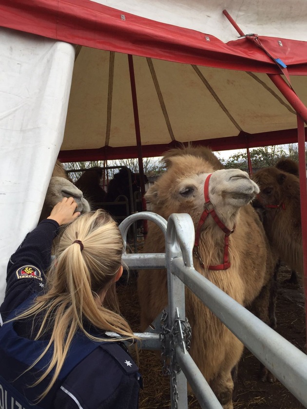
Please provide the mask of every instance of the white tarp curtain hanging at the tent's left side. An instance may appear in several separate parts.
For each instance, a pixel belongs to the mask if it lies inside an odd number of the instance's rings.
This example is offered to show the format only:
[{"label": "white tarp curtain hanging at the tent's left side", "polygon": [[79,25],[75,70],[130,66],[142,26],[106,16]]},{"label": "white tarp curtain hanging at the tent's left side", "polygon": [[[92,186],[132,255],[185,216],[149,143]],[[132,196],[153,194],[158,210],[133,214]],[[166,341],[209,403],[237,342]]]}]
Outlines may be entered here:
[{"label": "white tarp curtain hanging at the tent's left side", "polygon": [[0,28],[0,302],[9,256],[38,223],[60,149],[75,49]]}]

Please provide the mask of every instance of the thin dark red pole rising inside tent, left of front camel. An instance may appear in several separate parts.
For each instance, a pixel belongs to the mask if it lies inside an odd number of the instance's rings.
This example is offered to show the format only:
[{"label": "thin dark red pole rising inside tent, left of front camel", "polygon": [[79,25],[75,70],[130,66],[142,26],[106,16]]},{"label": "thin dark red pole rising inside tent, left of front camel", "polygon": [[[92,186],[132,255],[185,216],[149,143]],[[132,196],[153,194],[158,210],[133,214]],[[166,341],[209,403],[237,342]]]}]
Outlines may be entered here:
[{"label": "thin dark red pole rising inside tent, left of front camel", "polygon": [[[142,207],[143,207],[143,210],[147,210],[146,200],[144,198],[144,195],[145,195],[144,166],[143,166],[143,155],[142,155],[140,121],[138,117],[138,107],[137,107],[137,97],[136,97],[136,87],[135,87],[135,77],[134,77],[134,64],[133,64],[133,56],[130,54],[128,54],[128,63],[129,63],[133,113],[134,113],[134,126],[135,126],[135,136],[136,136],[136,146],[137,146],[137,156],[138,156],[138,169],[140,173],[140,182],[141,182]],[[143,220],[143,228],[144,228],[144,236],[146,236],[147,220]]]}]

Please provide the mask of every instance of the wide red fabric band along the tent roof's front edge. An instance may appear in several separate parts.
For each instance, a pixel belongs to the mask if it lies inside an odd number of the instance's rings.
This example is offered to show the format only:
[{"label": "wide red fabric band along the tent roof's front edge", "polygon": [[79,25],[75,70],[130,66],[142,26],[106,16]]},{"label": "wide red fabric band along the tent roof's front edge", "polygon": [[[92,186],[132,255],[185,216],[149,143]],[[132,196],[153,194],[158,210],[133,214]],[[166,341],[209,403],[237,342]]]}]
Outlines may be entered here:
[{"label": "wide red fabric band along the tent roof's front edge", "polygon": [[[276,63],[250,41],[225,44],[210,33],[144,19],[90,0],[10,0],[0,11],[2,27],[73,44],[209,67],[279,73]],[[259,38],[290,74],[307,74],[307,42]]]}]

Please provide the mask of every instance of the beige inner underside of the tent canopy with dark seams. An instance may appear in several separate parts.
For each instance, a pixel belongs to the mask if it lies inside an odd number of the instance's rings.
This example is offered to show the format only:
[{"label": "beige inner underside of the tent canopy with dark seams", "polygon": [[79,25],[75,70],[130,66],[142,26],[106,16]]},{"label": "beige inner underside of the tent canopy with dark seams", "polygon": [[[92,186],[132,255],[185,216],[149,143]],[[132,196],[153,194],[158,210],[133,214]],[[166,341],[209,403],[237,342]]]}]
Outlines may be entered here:
[{"label": "beige inner underside of the tent canopy with dark seams", "polygon": [[[284,130],[284,137],[297,140],[296,112],[266,74],[138,56],[133,64],[144,157],[176,142],[235,149],[281,143]],[[307,76],[291,77],[291,83],[307,102]],[[135,144],[127,55],[82,48],[61,160],[136,157]]]}]

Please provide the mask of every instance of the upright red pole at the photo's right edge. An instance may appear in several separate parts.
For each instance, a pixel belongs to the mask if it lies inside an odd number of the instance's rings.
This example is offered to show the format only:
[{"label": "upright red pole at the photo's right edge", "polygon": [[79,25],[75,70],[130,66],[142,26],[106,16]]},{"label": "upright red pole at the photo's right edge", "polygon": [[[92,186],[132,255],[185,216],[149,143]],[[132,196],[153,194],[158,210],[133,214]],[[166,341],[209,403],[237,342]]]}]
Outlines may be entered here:
[{"label": "upright red pole at the photo's right edge", "polygon": [[[307,317],[307,184],[306,184],[306,153],[305,153],[305,129],[304,120],[297,115],[297,136],[300,171],[301,193],[301,219],[302,219],[302,244],[304,260],[304,293],[305,293],[305,316]],[[307,339],[307,327],[306,327]]]}]

